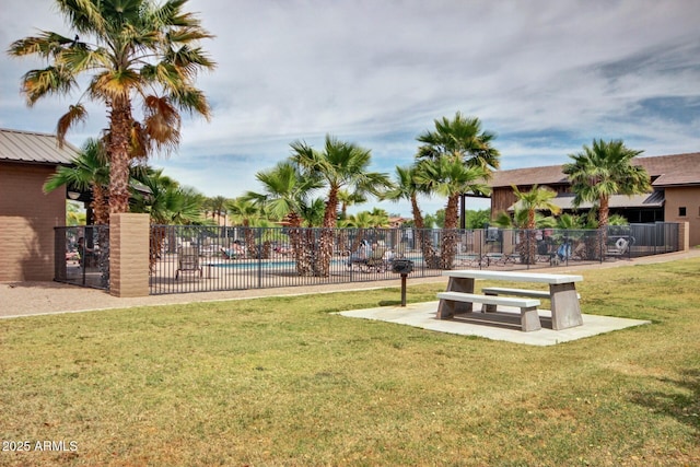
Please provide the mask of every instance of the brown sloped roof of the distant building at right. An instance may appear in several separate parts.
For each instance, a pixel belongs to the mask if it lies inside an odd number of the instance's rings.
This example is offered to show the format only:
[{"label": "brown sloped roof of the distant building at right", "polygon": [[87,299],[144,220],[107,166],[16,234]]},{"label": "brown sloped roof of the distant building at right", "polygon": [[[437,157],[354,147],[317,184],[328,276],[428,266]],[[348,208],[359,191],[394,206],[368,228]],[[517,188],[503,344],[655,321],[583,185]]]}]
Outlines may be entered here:
[{"label": "brown sloped roof of the distant building at right", "polygon": [[[652,177],[652,186],[666,187],[674,185],[700,185],[700,152],[651,157],[634,157],[633,164],[646,168]],[[510,187],[511,185],[561,185],[569,184],[562,172],[563,165],[544,167],[514,168],[493,172],[489,182],[491,187]]]}]

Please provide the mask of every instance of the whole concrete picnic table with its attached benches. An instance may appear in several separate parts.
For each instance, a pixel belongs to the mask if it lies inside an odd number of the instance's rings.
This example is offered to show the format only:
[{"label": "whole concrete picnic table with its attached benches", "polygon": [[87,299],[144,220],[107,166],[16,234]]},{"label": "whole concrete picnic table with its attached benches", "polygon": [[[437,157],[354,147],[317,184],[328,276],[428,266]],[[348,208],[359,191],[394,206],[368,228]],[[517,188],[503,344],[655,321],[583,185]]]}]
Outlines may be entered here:
[{"label": "whole concrete picnic table with its attached benches", "polygon": [[[582,276],[552,275],[517,271],[455,270],[445,271],[450,278],[446,292],[438,294],[438,319],[447,319],[456,314],[474,312],[474,304],[483,306],[485,312],[495,312],[499,305],[521,308],[521,325],[524,331],[540,329],[536,299],[551,301],[552,329],[560,330],[581,326],[581,305],[575,283],[583,281]],[[546,283],[549,292],[529,289],[486,288],[485,294],[475,293],[475,280],[503,280],[513,282]],[[500,295],[520,295],[529,299],[514,299]]]}]

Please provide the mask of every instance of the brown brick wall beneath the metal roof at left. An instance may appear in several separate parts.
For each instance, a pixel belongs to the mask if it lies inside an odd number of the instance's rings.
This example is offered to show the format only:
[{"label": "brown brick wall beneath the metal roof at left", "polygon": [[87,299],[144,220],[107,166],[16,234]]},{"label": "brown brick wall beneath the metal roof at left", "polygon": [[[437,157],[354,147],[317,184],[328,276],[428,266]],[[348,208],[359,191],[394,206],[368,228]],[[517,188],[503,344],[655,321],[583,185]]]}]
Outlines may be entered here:
[{"label": "brown brick wall beneath the metal roof at left", "polygon": [[42,190],[54,172],[0,162],[0,281],[54,279],[54,227],[66,223],[66,192]]}]

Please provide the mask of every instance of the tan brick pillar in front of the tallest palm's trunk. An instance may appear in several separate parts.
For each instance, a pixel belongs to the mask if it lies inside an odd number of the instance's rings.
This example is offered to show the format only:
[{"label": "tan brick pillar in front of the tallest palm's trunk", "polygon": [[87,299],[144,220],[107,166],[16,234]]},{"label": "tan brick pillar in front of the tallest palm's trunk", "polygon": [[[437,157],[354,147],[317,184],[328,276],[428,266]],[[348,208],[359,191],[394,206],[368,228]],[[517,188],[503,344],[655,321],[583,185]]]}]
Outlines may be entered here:
[{"label": "tan brick pillar in front of the tallest palm's trunk", "polygon": [[109,293],[149,294],[149,214],[109,215]]}]

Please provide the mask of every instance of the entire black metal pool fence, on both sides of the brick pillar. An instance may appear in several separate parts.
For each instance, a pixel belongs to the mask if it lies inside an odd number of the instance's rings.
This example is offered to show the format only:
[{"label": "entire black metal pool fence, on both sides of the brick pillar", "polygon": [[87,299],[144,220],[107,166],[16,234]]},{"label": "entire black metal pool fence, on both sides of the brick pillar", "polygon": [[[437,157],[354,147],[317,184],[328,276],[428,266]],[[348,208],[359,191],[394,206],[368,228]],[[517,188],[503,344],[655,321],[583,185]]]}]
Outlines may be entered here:
[{"label": "entire black metal pool fence, on both sides of the brick pillar", "polygon": [[[108,287],[106,229],[57,227],[57,248],[66,249],[56,256],[57,281]],[[81,235],[91,238],[85,246]],[[412,261],[410,277],[536,269],[676,252],[678,238],[675,223],[605,231],[151,225],[148,281],[151,294],[376,281],[398,279],[392,271],[397,259]]]}]

